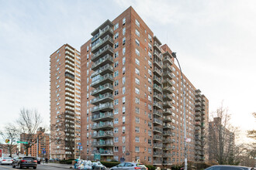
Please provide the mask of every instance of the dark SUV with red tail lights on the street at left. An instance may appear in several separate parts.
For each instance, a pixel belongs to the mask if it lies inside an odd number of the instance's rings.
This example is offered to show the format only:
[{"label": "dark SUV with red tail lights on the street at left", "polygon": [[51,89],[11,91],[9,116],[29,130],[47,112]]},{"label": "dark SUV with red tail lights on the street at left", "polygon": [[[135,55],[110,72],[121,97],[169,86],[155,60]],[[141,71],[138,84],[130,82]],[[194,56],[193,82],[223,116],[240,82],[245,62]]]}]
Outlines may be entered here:
[{"label": "dark SUV with red tail lights on the street at left", "polygon": [[37,166],[36,158],[31,156],[19,157],[14,159],[12,162],[12,168],[32,167],[36,169],[36,166]]}]

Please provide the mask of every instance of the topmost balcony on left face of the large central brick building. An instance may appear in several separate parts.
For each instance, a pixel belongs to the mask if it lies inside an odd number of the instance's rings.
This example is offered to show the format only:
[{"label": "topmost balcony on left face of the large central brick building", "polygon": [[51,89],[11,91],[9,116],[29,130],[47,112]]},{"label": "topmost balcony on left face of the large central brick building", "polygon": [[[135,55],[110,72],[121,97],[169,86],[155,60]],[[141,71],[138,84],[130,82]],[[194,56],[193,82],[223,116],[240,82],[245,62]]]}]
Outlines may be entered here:
[{"label": "topmost balcony on left face of the large central brick building", "polygon": [[92,42],[94,42],[96,39],[98,39],[101,36],[106,36],[107,34],[113,35],[114,32],[112,29],[112,23],[107,23],[107,22],[110,22],[110,21],[106,21],[102,24],[102,26],[105,26],[105,27],[99,26],[98,29],[95,29],[95,31],[92,32],[92,36],[93,36]]}]

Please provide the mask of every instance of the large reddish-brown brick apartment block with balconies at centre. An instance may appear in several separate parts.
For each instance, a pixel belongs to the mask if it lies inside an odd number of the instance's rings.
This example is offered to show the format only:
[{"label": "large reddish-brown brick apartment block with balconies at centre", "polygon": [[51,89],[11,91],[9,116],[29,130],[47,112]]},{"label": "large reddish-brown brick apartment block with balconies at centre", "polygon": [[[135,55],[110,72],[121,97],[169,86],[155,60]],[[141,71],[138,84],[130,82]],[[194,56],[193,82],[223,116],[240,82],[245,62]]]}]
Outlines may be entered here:
[{"label": "large reddish-brown brick apartment block with balconies at centre", "polygon": [[197,89],[184,74],[182,81],[171,53],[132,7],[92,32],[81,46],[82,158],[100,153],[107,161],[182,164],[184,88],[188,161],[205,161],[196,158],[195,128],[208,116],[195,121]]}]

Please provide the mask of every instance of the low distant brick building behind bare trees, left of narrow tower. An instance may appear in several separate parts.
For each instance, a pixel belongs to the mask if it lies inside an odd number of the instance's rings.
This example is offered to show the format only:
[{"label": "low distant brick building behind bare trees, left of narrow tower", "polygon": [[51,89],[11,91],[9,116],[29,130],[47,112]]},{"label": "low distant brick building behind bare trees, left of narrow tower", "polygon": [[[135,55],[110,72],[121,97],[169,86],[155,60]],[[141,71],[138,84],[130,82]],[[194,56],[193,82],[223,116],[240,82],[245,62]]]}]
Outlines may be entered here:
[{"label": "low distant brick building behind bare trees, left of narrow tower", "polygon": [[[33,135],[34,136],[33,138],[36,139],[38,137],[38,133],[42,133],[38,138],[38,150],[36,150],[37,144],[35,142],[34,145],[31,148],[29,148],[28,155],[36,157],[36,151],[38,151],[38,157],[50,158],[50,134],[45,134],[44,129],[40,128],[37,131],[37,134]],[[24,133],[20,134],[21,141],[26,141],[26,135],[27,134],[24,134]],[[43,151],[45,151],[45,154],[43,154]],[[26,155],[26,151],[24,150],[24,145],[22,144],[20,145],[20,154]]]}]

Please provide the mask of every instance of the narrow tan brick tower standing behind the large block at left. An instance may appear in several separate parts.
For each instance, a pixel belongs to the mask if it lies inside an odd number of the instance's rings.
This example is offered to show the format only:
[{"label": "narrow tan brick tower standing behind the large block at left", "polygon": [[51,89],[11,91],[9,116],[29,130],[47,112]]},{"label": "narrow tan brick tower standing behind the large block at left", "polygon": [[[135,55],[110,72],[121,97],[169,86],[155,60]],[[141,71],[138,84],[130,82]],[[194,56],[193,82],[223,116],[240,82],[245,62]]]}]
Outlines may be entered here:
[{"label": "narrow tan brick tower standing behind the large block at left", "polygon": [[64,44],[50,55],[50,156],[78,158],[81,142],[81,58]]}]

